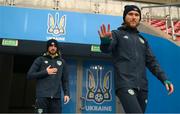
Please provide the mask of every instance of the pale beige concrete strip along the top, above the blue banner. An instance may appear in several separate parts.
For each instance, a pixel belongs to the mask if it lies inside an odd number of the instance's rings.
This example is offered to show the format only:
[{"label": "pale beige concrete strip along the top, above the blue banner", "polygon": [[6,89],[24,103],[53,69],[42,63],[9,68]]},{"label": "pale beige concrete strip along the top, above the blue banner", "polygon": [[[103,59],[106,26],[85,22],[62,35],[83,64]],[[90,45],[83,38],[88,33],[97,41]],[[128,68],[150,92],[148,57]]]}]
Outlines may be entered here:
[{"label": "pale beige concrete strip along the top, above the blue banner", "polygon": [[68,10],[117,16],[123,14],[124,6],[127,4],[137,6],[153,5],[117,0],[0,0],[0,5],[5,6]]}]

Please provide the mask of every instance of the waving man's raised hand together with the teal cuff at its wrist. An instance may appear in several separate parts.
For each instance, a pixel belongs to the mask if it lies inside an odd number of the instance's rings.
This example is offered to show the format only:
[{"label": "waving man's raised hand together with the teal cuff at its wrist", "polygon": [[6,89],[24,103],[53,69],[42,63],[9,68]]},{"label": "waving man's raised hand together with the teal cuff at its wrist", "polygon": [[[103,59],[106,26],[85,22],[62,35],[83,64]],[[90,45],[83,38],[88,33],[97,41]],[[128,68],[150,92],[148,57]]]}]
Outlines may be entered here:
[{"label": "waving man's raised hand together with the teal cuff at its wrist", "polygon": [[109,43],[112,40],[112,33],[110,31],[110,24],[108,24],[108,29],[106,31],[106,26],[102,24],[101,31],[98,30],[99,37],[103,44]]}]

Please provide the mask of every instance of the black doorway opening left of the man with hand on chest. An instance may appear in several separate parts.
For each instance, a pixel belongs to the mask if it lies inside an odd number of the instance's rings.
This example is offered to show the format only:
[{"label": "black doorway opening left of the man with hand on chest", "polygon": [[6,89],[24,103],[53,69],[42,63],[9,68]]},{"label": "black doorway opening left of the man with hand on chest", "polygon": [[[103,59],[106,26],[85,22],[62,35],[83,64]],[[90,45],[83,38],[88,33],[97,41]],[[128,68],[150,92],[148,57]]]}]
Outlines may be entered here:
[{"label": "black doorway opening left of the man with hand on chest", "polygon": [[34,59],[35,56],[14,55],[8,112],[27,113],[34,110],[35,81],[26,79],[26,73]]}]

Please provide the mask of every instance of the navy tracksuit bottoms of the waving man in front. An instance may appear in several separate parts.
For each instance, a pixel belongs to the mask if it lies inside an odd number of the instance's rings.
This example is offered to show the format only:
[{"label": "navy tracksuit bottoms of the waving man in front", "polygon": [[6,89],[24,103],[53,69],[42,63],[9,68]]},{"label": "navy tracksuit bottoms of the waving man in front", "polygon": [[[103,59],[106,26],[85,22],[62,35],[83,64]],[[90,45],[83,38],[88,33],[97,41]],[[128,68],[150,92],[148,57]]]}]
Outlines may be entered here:
[{"label": "navy tracksuit bottoms of the waving man in front", "polygon": [[121,88],[116,91],[125,113],[144,113],[148,92],[141,89]]}]

